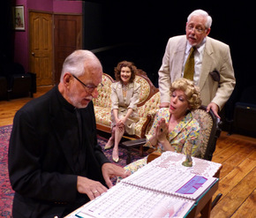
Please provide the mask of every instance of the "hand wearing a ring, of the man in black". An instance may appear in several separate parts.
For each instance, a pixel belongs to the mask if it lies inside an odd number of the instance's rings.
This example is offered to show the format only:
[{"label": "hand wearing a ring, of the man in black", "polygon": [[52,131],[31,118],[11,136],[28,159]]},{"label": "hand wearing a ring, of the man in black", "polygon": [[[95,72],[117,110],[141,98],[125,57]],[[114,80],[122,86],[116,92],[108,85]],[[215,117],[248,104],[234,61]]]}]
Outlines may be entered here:
[{"label": "hand wearing a ring, of the man in black", "polygon": [[103,192],[107,192],[107,188],[100,182],[94,181],[87,177],[78,176],[77,189],[79,193],[87,194],[89,199],[95,199]]}]

